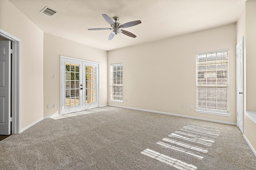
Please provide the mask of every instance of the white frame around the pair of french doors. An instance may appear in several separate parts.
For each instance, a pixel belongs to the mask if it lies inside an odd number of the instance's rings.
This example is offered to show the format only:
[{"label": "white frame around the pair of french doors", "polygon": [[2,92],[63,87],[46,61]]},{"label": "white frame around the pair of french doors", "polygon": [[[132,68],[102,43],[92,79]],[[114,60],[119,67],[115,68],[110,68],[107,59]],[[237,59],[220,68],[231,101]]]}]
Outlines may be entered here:
[{"label": "white frame around the pair of french doors", "polygon": [[[98,91],[98,93],[97,93],[97,99],[98,99],[98,105],[100,106],[100,95],[99,95],[99,93],[100,93],[100,90],[99,90],[99,87],[100,87],[100,81],[99,81],[99,77],[100,77],[100,63],[98,63],[98,62],[94,62],[94,61],[87,61],[87,60],[82,60],[82,59],[76,59],[76,58],[72,58],[72,57],[66,57],[66,56],[62,56],[62,55],[60,55],[60,115],[63,115],[62,114],[62,88],[64,88],[63,87],[63,84],[62,84],[62,59],[71,59],[71,60],[76,60],[76,61],[82,61],[82,62],[86,62],[86,63],[92,63],[92,64],[98,64],[98,70],[97,70],[97,72],[98,72],[98,74],[97,74],[97,82],[98,82],[98,86],[97,86],[97,91]],[[82,65],[83,66],[83,65]],[[82,71],[83,71],[83,69],[82,69]],[[65,85],[64,85],[65,86]]]}]

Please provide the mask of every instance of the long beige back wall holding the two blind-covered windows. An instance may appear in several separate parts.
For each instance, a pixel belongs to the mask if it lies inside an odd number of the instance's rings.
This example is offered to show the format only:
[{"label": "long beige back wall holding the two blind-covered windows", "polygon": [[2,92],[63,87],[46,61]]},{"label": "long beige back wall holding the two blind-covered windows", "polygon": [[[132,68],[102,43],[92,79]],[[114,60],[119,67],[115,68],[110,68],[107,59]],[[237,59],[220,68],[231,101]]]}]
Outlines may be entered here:
[{"label": "long beige back wall holding the two blind-covered windows", "polygon": [[[196,53],[220,49],[230,49],[230,117],[194,111]],[[108,69],[123,63],[124,103],[108,104],[236,123],[235,54],[236,24],[109,51]]]}]

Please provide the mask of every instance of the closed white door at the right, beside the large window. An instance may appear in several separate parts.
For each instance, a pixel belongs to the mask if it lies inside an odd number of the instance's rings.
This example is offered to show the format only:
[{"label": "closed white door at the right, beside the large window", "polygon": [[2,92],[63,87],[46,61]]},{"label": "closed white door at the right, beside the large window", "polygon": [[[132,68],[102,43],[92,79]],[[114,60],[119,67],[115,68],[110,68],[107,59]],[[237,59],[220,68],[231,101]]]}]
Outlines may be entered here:
[{"label": "closed white door at the right, beside the large window", "polygon": [[237,126],[244,133],[244,40],[236,46],[236,106]]}]

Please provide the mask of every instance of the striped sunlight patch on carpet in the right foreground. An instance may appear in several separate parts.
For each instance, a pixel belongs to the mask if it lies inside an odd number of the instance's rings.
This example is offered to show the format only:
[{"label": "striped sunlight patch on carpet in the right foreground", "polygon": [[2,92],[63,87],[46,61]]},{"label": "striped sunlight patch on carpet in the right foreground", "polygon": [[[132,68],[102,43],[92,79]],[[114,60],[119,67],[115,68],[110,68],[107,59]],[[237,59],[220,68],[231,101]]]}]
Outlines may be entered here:
[{"label": "striped sunlight patch on carpet in the right foreground", "polygon": [[[156,144],[165,149],[180,152],[188,156],[193,156],[199,160],[204,159],[204,154],[208,153],[207,147],[211,147],[221,131],[218,127],[204,125],[185,125],[181,129],[174,131],[168,137],[158,141]],[[171,153],[175,153],[172,152]],[[158,153],[154,150],[146,149],[141,154],[169,164],[179,170],[196,170],[197,167],[182,162],[182,160]],[[175,154],[172,154],[173,157]]]}]

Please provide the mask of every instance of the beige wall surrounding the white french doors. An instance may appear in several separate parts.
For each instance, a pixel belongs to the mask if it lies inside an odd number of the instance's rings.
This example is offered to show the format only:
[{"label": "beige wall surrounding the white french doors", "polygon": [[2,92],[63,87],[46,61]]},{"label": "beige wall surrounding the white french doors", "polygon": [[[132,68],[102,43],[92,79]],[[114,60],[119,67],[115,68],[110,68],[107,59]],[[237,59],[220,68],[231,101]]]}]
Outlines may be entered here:
[{"label": "beige wall surrounding the white french doors", "polygon": [[[100,63],[99,104],[107,105],[107,52],[44,33],[44,117],[60,114],[60,55]],[[56,108],[47,109],[48,104],[56,104]]]}]

